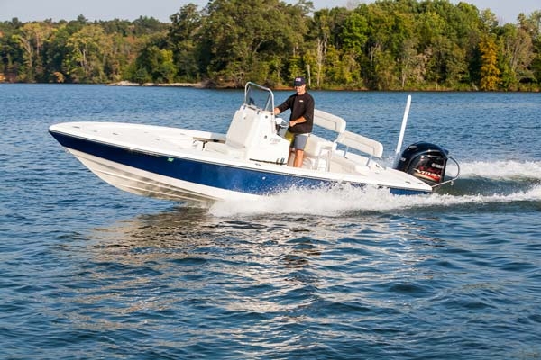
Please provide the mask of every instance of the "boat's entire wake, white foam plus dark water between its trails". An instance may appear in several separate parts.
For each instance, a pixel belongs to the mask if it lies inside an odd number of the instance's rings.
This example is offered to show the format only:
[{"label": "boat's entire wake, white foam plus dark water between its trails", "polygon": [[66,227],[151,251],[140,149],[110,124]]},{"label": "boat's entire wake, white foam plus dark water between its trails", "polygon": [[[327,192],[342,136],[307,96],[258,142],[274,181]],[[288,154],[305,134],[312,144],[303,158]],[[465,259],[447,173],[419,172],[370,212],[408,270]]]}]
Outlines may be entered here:
[{"label": "boat's entire wake, white foam plus dark water between its trails", "polygon": [[268,214],[344,216],[350,212],[479,211],[495,206],[541,207],[541,162],[472,162],[461,177],[431,195],[397,196],[377,188],[292,189],[257,202],[215,202],[209,211],[219,217]]}]

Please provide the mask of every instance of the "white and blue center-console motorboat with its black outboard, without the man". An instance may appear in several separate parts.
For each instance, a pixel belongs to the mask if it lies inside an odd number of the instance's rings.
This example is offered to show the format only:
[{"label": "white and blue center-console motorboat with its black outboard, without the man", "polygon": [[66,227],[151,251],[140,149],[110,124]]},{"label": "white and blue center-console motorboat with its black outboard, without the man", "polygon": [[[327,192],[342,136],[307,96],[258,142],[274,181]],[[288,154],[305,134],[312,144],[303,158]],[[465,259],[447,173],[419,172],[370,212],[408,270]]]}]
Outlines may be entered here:
[{"label": "white and blue center-console motorboat with its black outboard, without the man", "polygon": [[[400,138],[407,120],[404,113]],[[383,166],[380,142],[346,130],[346,121],[315,109],[302,167],[288,164],[286,121],[275,116],[271,89],[249,82],[226,133],[78,121],[51,125],[50,135],[108,184],[172,201],[254,200],[298,189],[373,186],[393,194],[433,193],[445,178],[447,150],[420,142]],[[316,131],[314,131],[316,132]],[[456,163],[458,166],[458,163]]]}]

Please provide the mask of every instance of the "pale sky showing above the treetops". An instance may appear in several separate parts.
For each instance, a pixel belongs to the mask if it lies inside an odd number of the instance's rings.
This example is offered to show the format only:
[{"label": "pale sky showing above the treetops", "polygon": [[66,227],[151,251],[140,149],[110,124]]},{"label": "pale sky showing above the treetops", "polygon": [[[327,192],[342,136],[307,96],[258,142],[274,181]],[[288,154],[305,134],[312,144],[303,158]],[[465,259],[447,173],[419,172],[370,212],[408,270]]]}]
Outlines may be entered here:
[{"label": "pale sky showing above the treetops", "polygon": [[[290,4],[296,0],[286,0]],[[348,3],[371,3],[371,0],[312,0],[316,10],[346,6]],[[474,4],[480,10],[491,9],[502,23],[516,23],[519,13],[531,14],[541,10],[540,0],[463,0]],[[52,19],[75,20],[84,15],[88,20],[113,20],[115,18],[133,21],[139,16],[152,16],[162,22],[169,22],[170,15],[185,4],[197,4],[203,8],[208,0],[0,0],[0,22],[14,17],[25,23]],[[458,4],[459,0],[451,0]]]}]

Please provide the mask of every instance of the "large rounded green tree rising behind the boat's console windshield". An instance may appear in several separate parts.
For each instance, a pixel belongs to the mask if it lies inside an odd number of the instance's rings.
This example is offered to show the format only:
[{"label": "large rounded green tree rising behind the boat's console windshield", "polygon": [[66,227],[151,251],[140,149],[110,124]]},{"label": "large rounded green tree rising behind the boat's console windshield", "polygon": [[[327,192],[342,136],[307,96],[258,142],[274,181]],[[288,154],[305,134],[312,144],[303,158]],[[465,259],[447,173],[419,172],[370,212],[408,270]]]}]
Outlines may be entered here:
[{"label": "large rounded green tree rising behind the boat's console windshield", "polygon": [[[206,6],[200,58],[208,76],[221,85],[264,82],[258,64],[276,54],[298,56],[307,30],[302,6],[278,0],[214,0]],[[269,67],[270,68],[270,67]]]}]

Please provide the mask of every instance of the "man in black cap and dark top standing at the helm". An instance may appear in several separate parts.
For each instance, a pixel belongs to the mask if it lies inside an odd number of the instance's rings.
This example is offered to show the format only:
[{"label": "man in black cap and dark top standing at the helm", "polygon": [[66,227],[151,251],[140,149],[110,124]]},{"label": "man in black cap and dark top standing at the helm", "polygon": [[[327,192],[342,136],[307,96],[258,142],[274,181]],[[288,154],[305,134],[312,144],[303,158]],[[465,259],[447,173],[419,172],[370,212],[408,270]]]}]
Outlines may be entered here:
[{"label": "man in black cap and dark top standing at the helm", "polygon": [[307,82],[304,77],[295,77],[293,81],[296,94],[274,108],[274,114],[285,112],[290,109],[288,131],[293,134],[293,140],[289,146],[289,160],[295,157],[293,166],[302,167],[304,148],[307,146],[308,136],[314,126],[314,98],[307,93]]}]

